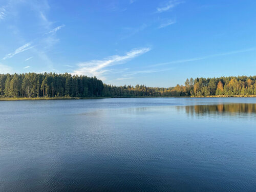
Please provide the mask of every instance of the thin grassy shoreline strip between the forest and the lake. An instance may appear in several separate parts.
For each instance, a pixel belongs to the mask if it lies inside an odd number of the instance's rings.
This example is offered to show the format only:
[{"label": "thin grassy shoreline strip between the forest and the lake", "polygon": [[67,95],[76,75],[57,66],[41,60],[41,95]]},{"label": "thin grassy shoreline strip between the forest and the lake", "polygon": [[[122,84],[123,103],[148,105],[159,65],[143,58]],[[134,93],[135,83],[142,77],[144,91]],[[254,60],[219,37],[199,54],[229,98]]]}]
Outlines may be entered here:
[{"label": "thin grassy shoreline strip between the forest and the lake", "polygon": [[110,99],[110,98],[224,98],[224,97],[256,97],[256,95],[210,95],[210,96],[176,96],[176,97],[18,97],[0,98],[0,101],[22,101],[22,100],[70,100],[70,99]]}]

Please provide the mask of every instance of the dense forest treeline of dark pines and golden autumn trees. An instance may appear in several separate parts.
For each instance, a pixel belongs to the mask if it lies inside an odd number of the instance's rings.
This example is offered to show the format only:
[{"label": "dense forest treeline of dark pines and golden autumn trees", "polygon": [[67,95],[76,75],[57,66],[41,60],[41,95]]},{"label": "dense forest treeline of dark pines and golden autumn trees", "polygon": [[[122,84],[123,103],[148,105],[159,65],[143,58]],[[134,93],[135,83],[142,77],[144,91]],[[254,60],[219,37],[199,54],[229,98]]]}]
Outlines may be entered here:
[{"label": "dense forest treeline of dark pines and golden autumn trees", "polygon": [[0,97],[174,97],[256,95],[256,76],[190,78],[184,86],[111,86],[96,77],[55,73],[0,74]]}]

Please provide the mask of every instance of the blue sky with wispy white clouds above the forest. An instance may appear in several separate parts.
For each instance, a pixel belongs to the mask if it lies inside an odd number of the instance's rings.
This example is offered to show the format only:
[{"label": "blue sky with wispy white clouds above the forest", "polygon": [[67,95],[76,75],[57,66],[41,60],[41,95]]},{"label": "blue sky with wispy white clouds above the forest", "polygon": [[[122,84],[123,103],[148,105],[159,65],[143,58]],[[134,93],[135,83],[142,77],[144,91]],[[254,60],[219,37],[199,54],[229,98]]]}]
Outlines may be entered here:
[{"label": "blue sky with wispy white clouds above the forest", "polygon": [[256,75],[255,0],[1,0],[0,73],[117,86]]}]

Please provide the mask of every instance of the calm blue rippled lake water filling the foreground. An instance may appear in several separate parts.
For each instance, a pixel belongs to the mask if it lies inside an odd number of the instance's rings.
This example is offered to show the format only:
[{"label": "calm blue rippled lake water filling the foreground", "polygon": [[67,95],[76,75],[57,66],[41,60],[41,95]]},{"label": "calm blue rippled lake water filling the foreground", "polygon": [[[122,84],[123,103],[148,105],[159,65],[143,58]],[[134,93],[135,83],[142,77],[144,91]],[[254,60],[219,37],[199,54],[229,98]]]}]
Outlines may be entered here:
[{"label": "calm blue rippled lake water filling the foreground", "polygon": [[256,98],[0,108],[0,191],[256,191]]}]

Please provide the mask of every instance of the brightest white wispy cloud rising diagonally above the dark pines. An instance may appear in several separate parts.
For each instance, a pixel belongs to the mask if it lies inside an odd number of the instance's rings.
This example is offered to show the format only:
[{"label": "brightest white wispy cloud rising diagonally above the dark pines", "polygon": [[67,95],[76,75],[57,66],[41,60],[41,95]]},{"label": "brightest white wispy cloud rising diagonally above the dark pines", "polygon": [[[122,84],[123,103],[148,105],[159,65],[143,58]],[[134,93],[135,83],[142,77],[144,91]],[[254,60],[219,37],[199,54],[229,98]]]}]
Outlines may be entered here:
[{"label": "brightest white wispy cloud rising diagonally above the dark pines", "polygon": [[78,63],[78,69],[73,71],[75,75],[87,75],[87,76],[97,76],[102,80],[105,77],[102,77],[102,74],[111,72],[112,70],[105,69],[107,67],[118,65],[120,63],[124,63],[127,60],[135,58],[141,54],[144,54],[150,51],[150,48],[142,48],[142,49],[133,49],[127,52],[123,56],[114,55],[103,60],[91,60],[88,62],[81,62]]}]

